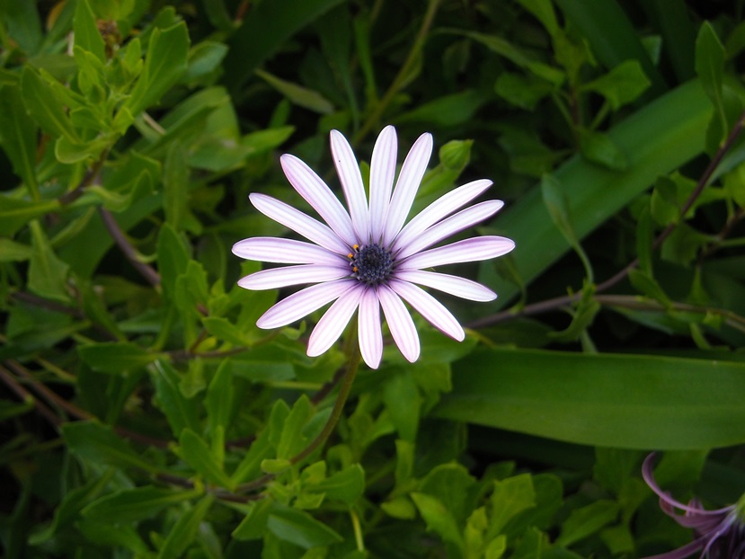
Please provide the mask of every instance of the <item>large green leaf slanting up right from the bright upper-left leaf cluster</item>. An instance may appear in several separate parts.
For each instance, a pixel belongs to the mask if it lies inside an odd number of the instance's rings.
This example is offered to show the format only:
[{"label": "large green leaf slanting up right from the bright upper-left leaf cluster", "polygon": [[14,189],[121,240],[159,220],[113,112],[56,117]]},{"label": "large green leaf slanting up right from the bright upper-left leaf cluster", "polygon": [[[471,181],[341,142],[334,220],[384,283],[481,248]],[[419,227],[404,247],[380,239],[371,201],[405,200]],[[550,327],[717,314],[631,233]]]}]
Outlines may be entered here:
[{"label": "large green leaf slanting up right from the bright upper-left leaf cluster", "polygon": [[186,70],[188,51],[189,33],[184,22],[153,30],[145,67],[124,105],[133,116],[160,102],[164,93],[179,81]]}]

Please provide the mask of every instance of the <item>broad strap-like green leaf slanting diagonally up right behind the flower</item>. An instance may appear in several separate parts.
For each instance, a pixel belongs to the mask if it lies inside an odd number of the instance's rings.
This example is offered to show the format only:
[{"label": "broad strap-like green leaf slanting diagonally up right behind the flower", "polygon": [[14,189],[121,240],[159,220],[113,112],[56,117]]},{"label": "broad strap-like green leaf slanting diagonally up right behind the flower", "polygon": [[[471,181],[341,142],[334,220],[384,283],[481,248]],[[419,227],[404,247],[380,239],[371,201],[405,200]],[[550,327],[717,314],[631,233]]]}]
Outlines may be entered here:
[{"label": "broad strap-like green leaf slanting diagonally up right behind the flower", "polygon": [[[563,186],[572,226],[582,238],[608,217],[624,208],[661,174],[670,173],[702,153],[706,123],[712,107],[701,86],[684,84],[608,131],[608,137],[628,157],[624,173],[617,173],[572,157],[554,172]],[[541,189],[523,194],[494,221],[496,231],[509,236],[519,247],[510,261],[525,283],[529,283],[556,262],[570,247],[556,229],[548,210],[541,205]],[[483,228],[484,231],[495,231]],[[493,266],[483,266],[481,280],[499,298],[497,309],[508,305],[519,286],[502,279]],[[488,314],[488,305],[482,313]]]}]

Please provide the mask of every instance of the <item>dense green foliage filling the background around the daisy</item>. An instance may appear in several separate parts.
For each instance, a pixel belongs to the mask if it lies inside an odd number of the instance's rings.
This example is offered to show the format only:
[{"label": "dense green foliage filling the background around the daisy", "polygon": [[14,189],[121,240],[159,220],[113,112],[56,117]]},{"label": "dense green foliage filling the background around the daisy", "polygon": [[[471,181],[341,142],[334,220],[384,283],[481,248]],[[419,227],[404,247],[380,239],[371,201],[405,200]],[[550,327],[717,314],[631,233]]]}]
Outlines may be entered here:
[{"label": "dense green foliage filling the background around the daisy", "polygon": [[[0,2],[0,542],[15,557],[637,557],[639,475],[745,491],[743,3]],[[278,155],[379,129],[491,178],[509,258],[362,370],[262,332],[237,240]],[[443,297],[447,299],[447,297]]]}]

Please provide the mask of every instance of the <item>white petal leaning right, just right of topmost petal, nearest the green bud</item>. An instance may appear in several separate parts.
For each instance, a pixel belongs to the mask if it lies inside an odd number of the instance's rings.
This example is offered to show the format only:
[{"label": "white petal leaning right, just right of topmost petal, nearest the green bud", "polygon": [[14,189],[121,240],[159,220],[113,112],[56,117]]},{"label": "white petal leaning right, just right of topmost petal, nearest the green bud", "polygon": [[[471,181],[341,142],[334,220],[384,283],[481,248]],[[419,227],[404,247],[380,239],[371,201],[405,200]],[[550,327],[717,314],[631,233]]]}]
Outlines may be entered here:
[{"label": "white petal leaning right, just right of topmost petal, nearest the green bud", "polygon": [[421,177],[427,170],[430,155],[432,155],[432,135],[425,133],[414,142],[409,155],[406,155],[404,165],[401,167],[401,173],[395,183],[394,195],[388,207],[383,244],[389,246],[395,235],[398,235],[401,227],[404,226],[406,216],[409,215],[412,202],[419,190]]}]

